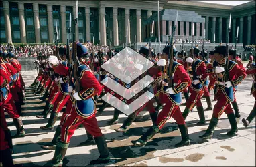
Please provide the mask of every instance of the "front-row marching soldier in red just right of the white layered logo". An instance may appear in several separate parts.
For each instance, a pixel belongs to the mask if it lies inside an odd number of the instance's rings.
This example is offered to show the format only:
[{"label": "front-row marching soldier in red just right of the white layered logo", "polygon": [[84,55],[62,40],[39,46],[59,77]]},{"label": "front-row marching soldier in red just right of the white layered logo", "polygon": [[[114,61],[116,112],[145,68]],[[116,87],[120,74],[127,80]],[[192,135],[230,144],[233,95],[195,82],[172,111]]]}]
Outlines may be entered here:
[{"label": "front-row marching soldier in red just right of the white layered logo", "polygon": [[[135,146],[145,146],[147,144],[147,141],[150,140],[159,130],[162,129],[166,121],[168,121],[171,117],[176,120],[180,132],[182,134],[182,141],[178,144],[176,144],[176,147],[178,146],[186,146],[190,144],[190,139],[188,136],[188,128],[186,126],[185,120],[182,117],[182,113],[180,112],[180,104],[182,102],[181,94],[185,88],[187,88],[190,83],[190,77],[188,76],[188,73],[186,73],[184,67],[180,64],[177,63],[176,61],[173,62],[172,65],[172,73],[170,75],[167,75],[168,73],[168,58],[173,58],[173,57],[168,57],[170,47],[168,46],[164,48],[163,50],[163,55],[162,59],[160,59],[157,62],[157,65],[163,67],[163,75],[164,81],[162,81],[162,88],[157,92],[159,94],[160,101],[162,104],[166,103],[162,111],[159,113],[157,117],[156,123],[141,136],[138,140],[132,141]],[[174,48],[174,54],[176,54],[176,49]],[[173,88],[168,88],[168,79],[172,77],[172,81],[174,83]]]}]

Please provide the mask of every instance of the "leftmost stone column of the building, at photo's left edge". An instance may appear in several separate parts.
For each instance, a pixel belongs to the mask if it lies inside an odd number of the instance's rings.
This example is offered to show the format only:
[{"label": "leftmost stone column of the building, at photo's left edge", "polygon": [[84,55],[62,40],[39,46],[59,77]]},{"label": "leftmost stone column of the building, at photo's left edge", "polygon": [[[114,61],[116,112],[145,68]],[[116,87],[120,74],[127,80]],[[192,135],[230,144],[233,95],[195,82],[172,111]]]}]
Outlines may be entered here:
[{"label": "leftmost stone column of the building, at photo's left edge", "polygon": [[12,43],[11,39],[11,21],[10,21],[10,12],[9,12],[9,1],[3,1],[3,15],[5,15],[5,35],[6,42]]}]

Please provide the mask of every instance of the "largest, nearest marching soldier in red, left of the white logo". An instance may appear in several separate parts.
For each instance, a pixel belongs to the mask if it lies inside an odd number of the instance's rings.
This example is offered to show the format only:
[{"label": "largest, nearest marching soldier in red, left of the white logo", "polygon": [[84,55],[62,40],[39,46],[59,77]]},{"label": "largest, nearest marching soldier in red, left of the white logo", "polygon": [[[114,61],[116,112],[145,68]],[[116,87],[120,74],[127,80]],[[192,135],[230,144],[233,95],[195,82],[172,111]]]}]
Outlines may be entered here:
[{"label": "largest, nearest marching soldier in red, left of the white logo", "polygon": [[[97,144],[98,150],[100,152],[100,157],[97,160],[92,160],[90,164],[101,164],[109,162],[109,150],[105,141],[104,135],[101,133],[101,129],[97,124],[95,118],[95,106],[92,97],[95,94],[101,92],[101,86],[94,74],[84,63],[84,57],[87,56],[88,51],[86,47],[82,44],[77,43],[77,57],[80,61],[77,74],[80,81],[81,90],[75,92],[75,88],[71,89],[69,87],[70,100],[67,111],[69,114],[64,118],[63,124],[61,126],[61,137],[56,144],[56,150],[54,153],[54,158],[51,160],[53,166],[62,166],[62,160],[68,149],[70,138],[74,134],[74,130],[78,128],[80,124],[86,124],[86,130],[92,136],[94,136],[95,142]],[[52,67],[55,67],[60,75],[70,75],[69,71],[65,69],[62,65],[59,65],[59,61],[56,57],[51,56],[49,62]],[[71,78],[70,78],[71,79]]]}]

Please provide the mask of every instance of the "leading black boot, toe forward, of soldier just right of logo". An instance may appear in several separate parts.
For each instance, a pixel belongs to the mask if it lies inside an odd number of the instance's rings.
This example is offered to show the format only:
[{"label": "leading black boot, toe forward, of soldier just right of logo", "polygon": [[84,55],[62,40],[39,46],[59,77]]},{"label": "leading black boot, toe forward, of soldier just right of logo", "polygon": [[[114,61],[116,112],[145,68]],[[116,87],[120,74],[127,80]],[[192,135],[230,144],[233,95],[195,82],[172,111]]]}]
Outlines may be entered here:
[{"label": "leading black boot, toe forward, of soldier just right of logo", "polygon": [[145,134],[141,136],[141,138],[139,138],[138,140],[132,140],[131,142],[135,146],[144,147],[147,144],[147,140],[150,140],[158,132],[159,132],[159,128],[153,125],[151,128],[149,128],[149,130],[147,130],[147,132],[145,132]]}]

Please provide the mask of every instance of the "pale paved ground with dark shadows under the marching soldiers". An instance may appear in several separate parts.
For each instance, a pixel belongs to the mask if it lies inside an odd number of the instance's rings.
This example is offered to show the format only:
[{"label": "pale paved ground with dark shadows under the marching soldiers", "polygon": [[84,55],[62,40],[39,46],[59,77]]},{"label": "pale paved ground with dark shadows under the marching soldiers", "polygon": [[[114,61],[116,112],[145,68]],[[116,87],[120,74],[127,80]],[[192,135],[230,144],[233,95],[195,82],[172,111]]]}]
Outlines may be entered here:
[{"label": "pale paved ground with dark shadows under the marching soldiers", "polygon": [[[42,166],[53,157],[53,150],[42,150],[40,145],[52,139],[62,114],[60,113],[54,130],[41,130],[39,128],[44,126],[48,119],[36,118],[36,114],[43,110],[44,103],[34,96],[31,88],[28,88],[34,81],[35,75],[36,71],[23,71],[23,79],[27,85],[27,101],[23,105],[25,110],[23,123],[27,136],[13,140],[15,150],[13,160],[15,164],[23,164],[24,166]],[[247,77],[239,86],[236,94],[242,118],[249,115],[255,101],[250,96],[251,83],[251,77]],[[206,108],[206,100],[202,100],[202,102]],[[184,110],[184,106],[181,107],[181,110]],[[111,162],[107,166],[255,166],[255,120],[249,128],[244,128],[240,120],[238,135],[227,138],[225,133],[228,132],[230,126],[226,114],[223,114],[214,132],[214,138],[209,142],[203,142],[198,136],[202,135],[208,127],[212,111],[206,112],[206,126],[194,126],[198,122],[198,114],[195,109],[186,120],[192,141],[190,146],[174,147],[174,144],[181,140],[180,132],[176,130],[168,134],[157,134],[148,142],[147,146],[137,148],[131,144],[131,140],[139,138],[152,124],[148,113],[144,113],[143,118],[147,121],[133,123],[125,134],[113,130],[121,124],[105,126],[107,120],[113,117],[113,108],[107,108],[102,116],[97,117],[111,153]],[[120,118],[122,123],[126,116],[122,114]],[[12,120],[7,118],[7,123],[11,122]],[[168,125],[171,122],[174,120],[171,119]],[[15,134],[15,127],[9,126],[9,128],[11,133]],[[87,166],[90,160],[99,156],[96,146],[77,147],[86,138],[84,128],[79,128],[74,132],[64,158],[65,166]]]}]

